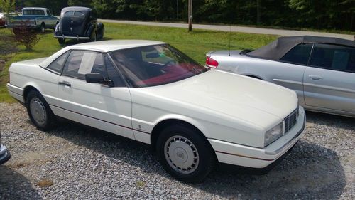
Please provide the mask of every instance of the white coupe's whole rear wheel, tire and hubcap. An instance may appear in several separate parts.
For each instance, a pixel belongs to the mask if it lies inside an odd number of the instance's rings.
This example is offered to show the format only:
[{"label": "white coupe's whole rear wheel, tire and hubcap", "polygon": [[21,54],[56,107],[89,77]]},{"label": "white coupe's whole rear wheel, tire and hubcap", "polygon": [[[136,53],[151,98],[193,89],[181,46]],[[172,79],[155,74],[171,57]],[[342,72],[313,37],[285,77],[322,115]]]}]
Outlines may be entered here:
[{"label": "white coupe's whole rear wheel, tire and hubcap", "polygon": [[26,108],[31,122],[33,122],[33,125],[38,130],[49,130],[53,127],[55,116],[52,110],[50,110],[48,103],[38,91],[32,90],[28,93]]}]

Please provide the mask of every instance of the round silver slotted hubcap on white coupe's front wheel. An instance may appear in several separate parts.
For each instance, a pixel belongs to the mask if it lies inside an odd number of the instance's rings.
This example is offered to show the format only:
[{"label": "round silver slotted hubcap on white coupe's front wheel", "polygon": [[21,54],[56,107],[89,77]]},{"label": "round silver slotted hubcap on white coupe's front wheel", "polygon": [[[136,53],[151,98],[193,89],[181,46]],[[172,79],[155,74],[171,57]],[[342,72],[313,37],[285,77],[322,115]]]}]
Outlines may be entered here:
[{"label": "round silver slotted hubcap on white coupe's front wheel", "polygon": [[186,137],[170,137],[164,146],[165,159],[170,167],[182,174],[194,172],[199,164],[199,154],[194,144]]}]

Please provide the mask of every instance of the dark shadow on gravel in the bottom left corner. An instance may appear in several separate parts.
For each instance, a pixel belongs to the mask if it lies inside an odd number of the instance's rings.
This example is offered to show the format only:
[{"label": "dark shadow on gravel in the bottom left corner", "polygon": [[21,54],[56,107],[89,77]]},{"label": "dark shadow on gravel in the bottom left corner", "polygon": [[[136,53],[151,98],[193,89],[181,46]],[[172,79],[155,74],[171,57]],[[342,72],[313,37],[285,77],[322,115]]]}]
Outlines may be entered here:
[{"label": "dark shadow on gravel in the bottom left corner", "polygon": [[[11,193],[9,192],[11,191]],[[0,199],[42,199],[31,181],[5,165],[0,166]]]}]

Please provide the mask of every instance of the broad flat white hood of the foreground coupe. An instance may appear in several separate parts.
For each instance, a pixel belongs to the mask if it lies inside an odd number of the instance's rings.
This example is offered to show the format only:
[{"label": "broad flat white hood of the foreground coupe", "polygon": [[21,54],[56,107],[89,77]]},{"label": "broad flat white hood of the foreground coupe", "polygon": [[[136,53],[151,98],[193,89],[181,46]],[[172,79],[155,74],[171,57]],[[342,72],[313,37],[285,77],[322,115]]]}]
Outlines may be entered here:
[{"label": "broad flat white hood of the foreground coupe", "polygon": [[[163,98],[164,101],[160,103],[168,100],[174,102],[176,107],[180,107],[175,112],[182,115],[190,114],[182,113],[184,109],[181,109],[181,105],[190,107],[187,110],[209,113],[212,116],[209,120],[213,119],[214,122],[228,119],[263,130],[277,125],[297,107],[297,95],[292,90],[220,70],[209,70],[175,83],[139,89],[146,95]],[[207,120],[207,115],[193,117]]]}]

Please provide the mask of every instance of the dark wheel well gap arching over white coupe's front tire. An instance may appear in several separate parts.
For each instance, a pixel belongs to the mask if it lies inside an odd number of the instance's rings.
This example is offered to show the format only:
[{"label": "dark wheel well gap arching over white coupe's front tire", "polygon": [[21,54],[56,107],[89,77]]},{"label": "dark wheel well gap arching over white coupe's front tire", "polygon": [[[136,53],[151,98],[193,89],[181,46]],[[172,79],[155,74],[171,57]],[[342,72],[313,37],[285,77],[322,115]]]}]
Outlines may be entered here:
[{"label": "dark wheel well gap arching over white coupe's front tire", "polygon": [[[168,127],[168,126],[171,126],[171,125],[181,125],[181,126],[189,127],[192,130],[195,130],[200,136],[204,137],[207,140],[207,137],[204,136],[203,133],[197,127],[195,127],[194,125],[191,125],[188,122],[185,122],[185,121],[182,121],[182,120],[173,120],[173,119],[171,119],[171,120],[163,120],[162,122],[159,122],[158,125],[155,125],[155,127],[153,128],[152,135],[151,135],[151,147],[152,147],[153,150],[155,150],[155,145],[156,145],[156,142],[157,142],[158,137],[160,135],[160,132],[165,127]],[[208,140],[207,140],[207,142],[208,142]]]}]

